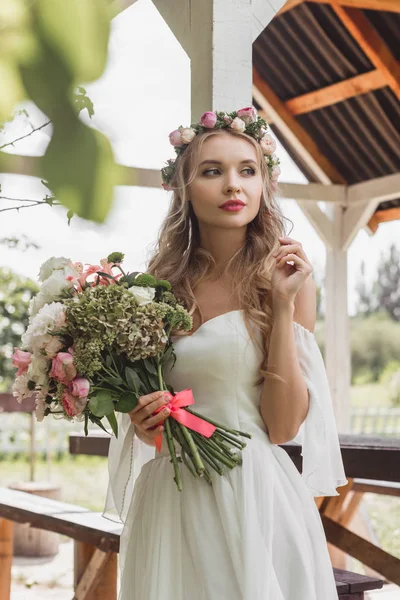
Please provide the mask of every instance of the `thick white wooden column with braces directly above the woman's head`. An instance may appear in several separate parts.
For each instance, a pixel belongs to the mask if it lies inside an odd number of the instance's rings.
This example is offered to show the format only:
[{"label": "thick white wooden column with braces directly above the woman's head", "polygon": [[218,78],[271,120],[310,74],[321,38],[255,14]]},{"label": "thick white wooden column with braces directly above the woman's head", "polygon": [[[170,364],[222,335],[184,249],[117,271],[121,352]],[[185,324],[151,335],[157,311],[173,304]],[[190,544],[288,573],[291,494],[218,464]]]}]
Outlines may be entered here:
[{"label": "thick white wooden column with braces directly above the woman's head", "polygon": [[285,0],[154,0],[191,60],[191,114],[252,104],[252,44]]}]

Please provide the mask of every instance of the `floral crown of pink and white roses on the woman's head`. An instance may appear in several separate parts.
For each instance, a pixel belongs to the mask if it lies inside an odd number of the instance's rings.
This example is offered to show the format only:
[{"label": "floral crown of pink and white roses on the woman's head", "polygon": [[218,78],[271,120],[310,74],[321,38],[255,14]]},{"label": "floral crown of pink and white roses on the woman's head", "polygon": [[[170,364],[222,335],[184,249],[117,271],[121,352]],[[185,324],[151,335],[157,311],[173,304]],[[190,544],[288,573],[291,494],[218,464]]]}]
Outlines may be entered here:
[{"label": "floral crown of pink and white roses on the woman's head", "polygon": [[[281,174],[279,158],[274,154],[276,141],[268,133],[268,125],[264,119],[257,115],[253,106],[241,108],[230,113],[223,111],[205,112],[198,123],[192,123],[190,127],[178,127],[169,134],[169,141],[179,156],[185,148],[199,133],[212,129],[232,129],[241,133],[247,133],[259,142],[268,166],[269,178],[272,188],[276,191],[278,178]],[[171,190],[170,182],[175,173],[175,159],[169,159],[165,167],[161,169],[162,186],[165,190]]]}]

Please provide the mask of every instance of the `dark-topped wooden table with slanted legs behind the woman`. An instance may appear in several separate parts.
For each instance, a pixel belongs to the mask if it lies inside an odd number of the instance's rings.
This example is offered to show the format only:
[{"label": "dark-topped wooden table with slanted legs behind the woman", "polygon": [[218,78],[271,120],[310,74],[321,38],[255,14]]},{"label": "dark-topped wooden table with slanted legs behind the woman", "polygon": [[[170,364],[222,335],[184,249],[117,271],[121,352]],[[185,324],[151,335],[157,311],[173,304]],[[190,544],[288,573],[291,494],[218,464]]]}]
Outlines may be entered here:
[{"label": "dark-topped wooden table with slanted legs behind the woman", "polygon": [[[71,454],[108,455],[110,438],[100,430],[88,437],[71,433],[69,439]],[[339,496],[316,498],[327,541],[400,585],[400,560],[347,528],[362,498],[359,479],[376,480],[377,488],[378,482],[400,483],[400,439],[342,434],[339,441],[348,484],[338,488]],[[301,446],[291,442],[281,447],[301,472]]]}]

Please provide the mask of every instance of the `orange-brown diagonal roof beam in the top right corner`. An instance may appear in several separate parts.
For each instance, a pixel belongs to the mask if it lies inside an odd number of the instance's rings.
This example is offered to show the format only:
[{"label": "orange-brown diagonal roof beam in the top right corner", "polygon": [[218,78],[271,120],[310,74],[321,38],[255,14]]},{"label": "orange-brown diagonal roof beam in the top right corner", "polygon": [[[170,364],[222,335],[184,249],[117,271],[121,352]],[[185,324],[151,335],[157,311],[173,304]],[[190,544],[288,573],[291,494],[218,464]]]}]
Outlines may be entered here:
[{"label": "orange-brown diagonal roof beam in the top right corner", "polygon": [[400,64],[375,27],[360,10],[344,8],[338,4],[333,4],[332,8],[372,64],[382,72],[386,84],[400,99]]}]

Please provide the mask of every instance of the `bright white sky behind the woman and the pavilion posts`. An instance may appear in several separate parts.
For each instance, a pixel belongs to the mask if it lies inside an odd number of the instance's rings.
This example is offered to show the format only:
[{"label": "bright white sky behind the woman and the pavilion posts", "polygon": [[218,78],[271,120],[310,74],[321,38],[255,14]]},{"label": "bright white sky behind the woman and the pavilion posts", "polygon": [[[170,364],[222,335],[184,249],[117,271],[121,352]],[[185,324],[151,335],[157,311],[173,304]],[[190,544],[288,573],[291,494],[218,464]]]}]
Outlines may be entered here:
[{"label": "bright white sky behind the woman and the pavilion posts", "polygon": [[[108,136],[116,162],[160,169],[168,158],[173,158],[168,134],[190,123],[190,61],[150,0],[138,0],[114,18],[106,69],[99,80],[82,85],[95,108],[92,120],[87,113],[81,113],[82,119]],[[46,121],[32,103],[23,107],[34,126]],[[21,118],[8,127],[0,135],[0,145],[27,133],[29,122]],[[40,156],[50,136],[49,126],[18,142],[10,151]],[[281,159],[281,181],[306,183],[279,143],[277,154]],[[0,184],[1,196],[11,198],[41,199],[47,192],[39,179],[20,175],[0,174]],[[39,206],[0,213],[0,239],[26,235],[40,246],[23,252],[0,245],[0,266],[9,266],[36,280],[40,265],[50,256],[98,263],[118,250],[125,253],[129,271],[144,270],[168,204],[169,194],[162,188],[118,186],[112,210],[101,225],[74,217],[68,226],[63,207]],[[0,208],[11,205],[0,199]],[[316,277],[323,275],[324,244],[295,201],[282,200],[281,206],[294,223],[291,237],[303,244]],[[349,314],[355,311],[354,284],[361,261],[366,262],[371,281],[381,252],[399,240],[400,221],[381,224],[372,237],[365,230],[358,233],[348,251]]]}]

